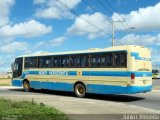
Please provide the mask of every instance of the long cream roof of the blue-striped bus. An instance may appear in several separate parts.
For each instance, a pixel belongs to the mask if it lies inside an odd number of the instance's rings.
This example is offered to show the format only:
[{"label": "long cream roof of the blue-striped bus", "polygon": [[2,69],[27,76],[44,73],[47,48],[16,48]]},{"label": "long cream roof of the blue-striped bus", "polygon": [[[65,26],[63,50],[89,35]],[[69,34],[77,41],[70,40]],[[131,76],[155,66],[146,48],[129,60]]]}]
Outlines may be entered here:
[{"label": "long cream roof of the blue-striped bus", "polygon": [[[90,48],[88,50],[80,50],[80,51],[67,51],[67,52],[40,52],[40,53],[34,53],[34,54],[27,54],[18,56],[20,57],[36,57],[36,56],[51,56],[51,55],[68,55],[68,54],[82,54],[82,53],[96,53],[96,52],[109,52],[109,51],[127,51],[131,49],[140,49],[145,48],[143,46],[136,46],[136,45],[125,45],[125,46],[114,46],[114,47],[108,47],[108,48]],[[148,49],[148,48],[147,48]]]}]

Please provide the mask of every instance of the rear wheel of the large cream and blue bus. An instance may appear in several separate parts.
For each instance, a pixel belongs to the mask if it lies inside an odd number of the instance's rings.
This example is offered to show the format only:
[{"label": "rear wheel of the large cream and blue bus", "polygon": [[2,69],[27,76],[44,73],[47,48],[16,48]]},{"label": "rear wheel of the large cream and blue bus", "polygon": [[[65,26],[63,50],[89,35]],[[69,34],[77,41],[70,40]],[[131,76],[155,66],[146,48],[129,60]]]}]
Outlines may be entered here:
[{"label": "rear wheel of the large cream and blue bus", "polygon": [[85,97],[86,95],[86,88],[82,83],[77,83],[74,87],[74,93],[77,97]]}]

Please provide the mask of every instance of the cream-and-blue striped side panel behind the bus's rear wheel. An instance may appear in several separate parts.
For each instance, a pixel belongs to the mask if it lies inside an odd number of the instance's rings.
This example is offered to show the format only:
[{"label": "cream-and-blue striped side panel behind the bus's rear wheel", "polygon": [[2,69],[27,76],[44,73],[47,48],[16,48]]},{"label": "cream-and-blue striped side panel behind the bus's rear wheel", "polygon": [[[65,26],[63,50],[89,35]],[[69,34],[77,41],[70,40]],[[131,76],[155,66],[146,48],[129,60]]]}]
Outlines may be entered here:
[{"label": "cream-and-blue striped side panel behind the bus's rear wheel", "polygon": [[[93,68],[89,74],[86,88],[88,93],[112,94],[114,87],[127,86],[126,68]],[[117,91],[121,93],[121,91]]]}]

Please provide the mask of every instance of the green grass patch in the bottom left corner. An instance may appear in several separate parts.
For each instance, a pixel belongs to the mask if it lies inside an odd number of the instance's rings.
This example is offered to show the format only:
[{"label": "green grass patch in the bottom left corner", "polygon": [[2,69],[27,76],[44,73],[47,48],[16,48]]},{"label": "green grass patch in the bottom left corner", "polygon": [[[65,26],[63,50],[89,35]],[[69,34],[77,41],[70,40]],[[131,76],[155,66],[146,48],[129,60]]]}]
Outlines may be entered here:
[{"label": "green grass patch in the bottom left corner", "polygon": [[68,120],[62,112],[43,103],[7,99],[0,99],[0,116],[0,119],[16,120]]}]

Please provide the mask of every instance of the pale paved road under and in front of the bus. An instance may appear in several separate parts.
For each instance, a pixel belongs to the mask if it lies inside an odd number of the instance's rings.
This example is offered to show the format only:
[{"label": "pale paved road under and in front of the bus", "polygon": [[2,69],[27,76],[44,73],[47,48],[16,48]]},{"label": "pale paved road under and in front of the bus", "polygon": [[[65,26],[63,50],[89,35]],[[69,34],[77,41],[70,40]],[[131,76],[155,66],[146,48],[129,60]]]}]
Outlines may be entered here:
[{"label": "pale paved road under and in front of the bus", "polygon": [[106,116],[106,114],[160,114],[160,92],[157,90],[136,95],[89,94],[86,98],[76,98],[74,94],[66,92],[37,90],[29,93],[21,88],[0,87],[0,96],[14,100],[31,101],[33,99],[38,103],[56,107],[75,120],[81,120],[84,117],[90,120],[104,120],[106,117],[118,120],[123,117],[122,115]]}]

